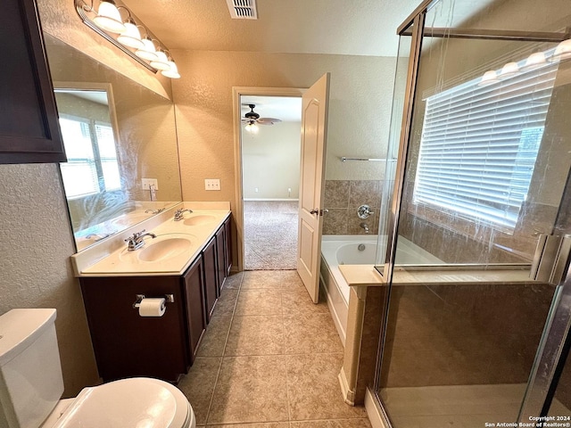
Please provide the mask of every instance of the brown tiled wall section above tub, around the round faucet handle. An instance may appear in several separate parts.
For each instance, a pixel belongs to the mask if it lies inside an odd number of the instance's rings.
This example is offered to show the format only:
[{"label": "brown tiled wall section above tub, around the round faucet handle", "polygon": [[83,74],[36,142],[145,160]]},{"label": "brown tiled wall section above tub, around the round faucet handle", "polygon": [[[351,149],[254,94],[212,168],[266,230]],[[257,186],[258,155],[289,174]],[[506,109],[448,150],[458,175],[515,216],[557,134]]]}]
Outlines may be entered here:
[{"label": "brown tiled wall section above tub, around the round faucet handle", "polygon": [[[326,180],[323,235],[376,235],[383,181],[380,180]],[[375,213],[362,220],[357,216],[360,205],[366,204]]]}]

